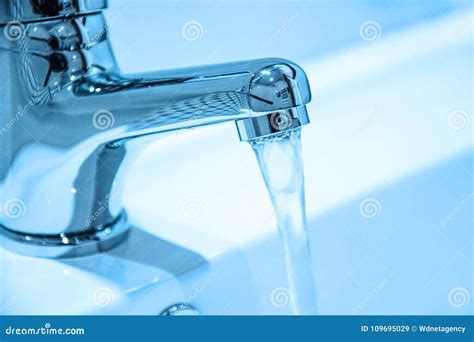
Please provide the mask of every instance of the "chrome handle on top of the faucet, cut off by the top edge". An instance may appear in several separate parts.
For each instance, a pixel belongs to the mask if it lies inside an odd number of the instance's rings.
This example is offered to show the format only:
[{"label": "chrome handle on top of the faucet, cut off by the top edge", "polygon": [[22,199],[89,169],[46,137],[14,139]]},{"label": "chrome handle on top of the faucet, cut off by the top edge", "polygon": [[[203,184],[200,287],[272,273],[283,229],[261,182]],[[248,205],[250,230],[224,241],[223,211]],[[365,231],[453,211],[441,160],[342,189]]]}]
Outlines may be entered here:
[{"label": "chrome handle on top of the faucet, cut off by the top edge", "polygon": [[0,1],[0,25],[12,21],[58,19],[91,14],[107,8],[107,0]]}]

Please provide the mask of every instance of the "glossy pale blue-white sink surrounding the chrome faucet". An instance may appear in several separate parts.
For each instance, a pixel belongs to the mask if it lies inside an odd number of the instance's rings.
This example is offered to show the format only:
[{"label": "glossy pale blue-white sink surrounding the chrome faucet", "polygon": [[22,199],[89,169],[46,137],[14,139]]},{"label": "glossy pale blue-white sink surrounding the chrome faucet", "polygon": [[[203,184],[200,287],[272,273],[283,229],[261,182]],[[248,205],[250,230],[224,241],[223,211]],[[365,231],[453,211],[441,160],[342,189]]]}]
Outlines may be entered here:
[{"label": "glossy pale blue-white sink surrounding the chrome faucet", "polygon": [[[473,314],[472,302],[449,300],[456,288],[474,293],[472,13],[424,4],[387,18],[374,2],[356,5],[359,12],[337,17],[344,26],[331,39],[327,30],[337,25],[318,24],[324,34],[304,48],[292,37],[316,25],[307,13],[335,17],[342,4],[272,7],[280,24],[253,38],[253,50],[229,42],[209,50],[217,36],[234,41],[241,31],[216,32],[224,19],[189,2],[147,3],[164,8],[156,23],[132,21],[126,1],[112,1],[107,16],[112,37],[130,36],[114,41],[124,71],[132,71],[131,51],[149,52],[133,54],[144,69],[274,54],[307,70],[314,100],[302,139],[320,314]],[[285,24],[288,13],[296,17]],[[381,37],[361,39],[359,25],[374,18]],[[202,21],[201,40],[180,36],[188,20]],[[122,43],[155,34],[146,29],[152,24],[169,30],[158,30],[162,44]],[[453,125],[452,113],[466,123]],[[276,298],[287,281],[272,207],[253,152],[236,134],[222,124],[150,143],[127,181],[131,235],[108,252],[52,260],[0,248],[0,312],[156,315],[186,303],[202,314],[290,314]]]}]

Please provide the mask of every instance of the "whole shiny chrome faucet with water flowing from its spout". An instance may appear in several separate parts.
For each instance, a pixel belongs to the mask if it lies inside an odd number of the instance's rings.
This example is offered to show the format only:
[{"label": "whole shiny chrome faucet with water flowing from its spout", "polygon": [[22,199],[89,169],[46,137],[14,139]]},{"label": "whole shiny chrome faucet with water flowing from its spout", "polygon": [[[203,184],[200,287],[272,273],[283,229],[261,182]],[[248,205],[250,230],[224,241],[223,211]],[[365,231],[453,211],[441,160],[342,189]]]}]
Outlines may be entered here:
[{"label": "whole shiny chrome faucet with water flowing from its spout", "polygon": [[309,122],[308,80],[285,59],[123,75],[106,7],[0,2],[0,243],[14,252],[74,257],[123,241],[127,170],[161,134],[234,121],[251,141]]}]

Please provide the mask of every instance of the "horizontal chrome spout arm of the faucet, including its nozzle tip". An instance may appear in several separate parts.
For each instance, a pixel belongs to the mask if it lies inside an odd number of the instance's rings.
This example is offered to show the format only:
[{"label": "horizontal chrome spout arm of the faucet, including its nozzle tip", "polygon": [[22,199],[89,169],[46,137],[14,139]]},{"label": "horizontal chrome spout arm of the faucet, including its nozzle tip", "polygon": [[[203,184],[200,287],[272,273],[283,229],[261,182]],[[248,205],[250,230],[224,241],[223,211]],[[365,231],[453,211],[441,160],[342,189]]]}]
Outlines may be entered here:
[{"label": "horizontal chrome spout arm of the faucet, including its nozzle tip", "polygon": [[269,58],[130,76],[94,73],[58,96],[56,110],[74,103],[70,114],[90,120],[93,113],[101,134],[89,134],[100,143],[225,121],[236,121],[241,139],[249,140],[308,123],[310,98],[299,66]]}]

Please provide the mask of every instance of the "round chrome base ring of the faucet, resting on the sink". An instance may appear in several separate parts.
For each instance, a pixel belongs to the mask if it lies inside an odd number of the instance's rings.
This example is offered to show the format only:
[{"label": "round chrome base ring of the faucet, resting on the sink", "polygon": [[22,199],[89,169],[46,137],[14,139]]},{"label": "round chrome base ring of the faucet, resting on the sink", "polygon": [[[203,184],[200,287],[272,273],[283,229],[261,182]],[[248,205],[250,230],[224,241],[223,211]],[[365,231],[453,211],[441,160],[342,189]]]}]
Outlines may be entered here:
[{"label": "round chrome base ring of the faucet, resting on the sink", "polygon": [[105,252],[122,242],[130,231],[123,211],[110,225],[77,234],[24,234],[0,225],[0,247],[40,258],[73,258]]}]

